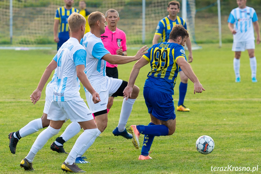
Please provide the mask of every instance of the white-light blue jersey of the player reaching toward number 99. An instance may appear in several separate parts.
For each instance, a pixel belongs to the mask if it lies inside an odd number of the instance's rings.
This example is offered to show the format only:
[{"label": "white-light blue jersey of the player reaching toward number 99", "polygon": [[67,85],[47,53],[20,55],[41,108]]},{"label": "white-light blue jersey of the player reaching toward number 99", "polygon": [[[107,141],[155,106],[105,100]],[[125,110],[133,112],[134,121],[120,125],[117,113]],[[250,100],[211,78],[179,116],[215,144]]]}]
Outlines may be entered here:
[{"label": "white-light blue jersey of the player reaching toward number 99", "polygon": [[[104,48],[101,38],[97,38],[91,32],[86,33],[81,41],[86,50],[86,73],[93,87],[106,83],[106,61],[102,59],[110,52]],[[85,92],[87,90],[84,88]]]}]

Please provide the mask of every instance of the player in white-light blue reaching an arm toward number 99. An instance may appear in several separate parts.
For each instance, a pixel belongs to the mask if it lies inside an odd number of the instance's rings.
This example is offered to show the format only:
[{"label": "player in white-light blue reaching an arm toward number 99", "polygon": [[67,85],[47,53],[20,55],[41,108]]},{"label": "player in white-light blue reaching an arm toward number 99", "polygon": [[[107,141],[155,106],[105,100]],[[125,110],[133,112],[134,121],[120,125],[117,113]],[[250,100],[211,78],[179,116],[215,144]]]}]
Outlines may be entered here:
[{"label": "player in white-light blue reaching an arm toward number 99", "polygon": [[[121,56],[112,55],[104,48],[101,40],[101,34],[105,32],[106,20],[103,13],[95,11],[88,17],[88,23],[90,25],[90,32],[86,33],[82,39],[83,48],[86,50],[86,67],[85,73],[90,80],[93,88],[99,93],[101,102],[93,103],[90,91],[85,88],[85,96],[95,116],[95,121],[98,126],[98,133],[88,143],[88,145],[80,153],[83,155],[85,151],[94,143],[96,137],[98,137],[107,127],[108,113],[107,103],[108,98],[112,95],[123,96],[123,90],[127,86],[128,82],[106,76],[106,62],[110,64],[126,64],[132,61],[139,60],[143,54],[147,53],[146,46],[142,47],[135,56]],[[85,86],[84,86],[85,87]],[[139,95],[139,87],[133,87],[133,95],[128,100],[123,100],[122,110],[120,113],[120,119],[118,126],[113,130],[115,136],[123,136],[127,139],[132,139],[132,135],[127,132],[126,124],[132,111],[132,106]],[[71,123],[69,126],[73,126]],[[69,127],[68,126],[68,127]],[[67,128],[68,128],[67,127]],[[79,130],[80,131],[80,130]],[[65,130],[67,132],[67,130]],[[65,132],[61,135],[68,140],[72,136],[65,135]],[[75,132],[77,134],[78,132]]]}]

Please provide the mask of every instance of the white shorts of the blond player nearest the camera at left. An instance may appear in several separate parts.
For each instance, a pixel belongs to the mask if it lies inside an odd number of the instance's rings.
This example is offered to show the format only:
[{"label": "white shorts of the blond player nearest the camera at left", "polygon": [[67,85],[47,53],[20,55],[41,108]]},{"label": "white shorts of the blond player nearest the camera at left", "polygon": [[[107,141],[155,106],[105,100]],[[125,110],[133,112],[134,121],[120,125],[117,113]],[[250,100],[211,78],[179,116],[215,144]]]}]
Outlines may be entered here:
[{"label": "white shorts of the blond player nearest the camera at left", "polygon": [[51,101],[48,120],[68,120],[72,122],[89,121],[93,115],[82,98],[69,101]]}]

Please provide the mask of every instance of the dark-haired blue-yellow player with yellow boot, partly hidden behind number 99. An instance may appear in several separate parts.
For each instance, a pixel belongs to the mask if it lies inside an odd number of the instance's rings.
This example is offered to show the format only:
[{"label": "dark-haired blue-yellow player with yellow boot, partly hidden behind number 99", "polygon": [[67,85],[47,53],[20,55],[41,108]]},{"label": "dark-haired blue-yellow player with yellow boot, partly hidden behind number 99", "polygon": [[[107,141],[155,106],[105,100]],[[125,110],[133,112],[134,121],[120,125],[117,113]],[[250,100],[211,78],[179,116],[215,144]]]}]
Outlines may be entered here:
[{"label": "dark-haired blue-yellow player with yellow boot, partly hidden behind number 99", "polygon": [[[161,19],[156,28],[156,32],[154,34],[152,44],[157,44],[159,38],[161,37],[161,42],[167,42],[169,40],[169,34],[176,24],[183,25],[185,29],[187,29],[187,24],[181,17],[177,16],[180,10],[180,3],[178,1],[171,1],[168,3],[168,16]],[[192,49],[191,49],[191,40],[187,39],[186,45],[188,47],[188,62],[193,61]],[[186,57],[185,57],[186,58]],[[187,59],[186,59],[187,60]],[[180,75],[180,85],[179,85],[179,100],[178,100],[178,111],[190,111],[190,109],[184,106],[184,99],[187,93],[188,88],[188,77],[183,73],[181,68],[179,69]]]}]

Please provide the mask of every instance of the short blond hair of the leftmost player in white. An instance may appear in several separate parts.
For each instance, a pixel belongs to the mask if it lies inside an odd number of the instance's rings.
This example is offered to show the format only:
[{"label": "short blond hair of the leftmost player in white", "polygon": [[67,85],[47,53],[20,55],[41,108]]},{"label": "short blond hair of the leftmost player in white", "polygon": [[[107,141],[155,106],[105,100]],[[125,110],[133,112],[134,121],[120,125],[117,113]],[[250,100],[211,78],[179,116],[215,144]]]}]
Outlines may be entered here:
[{"label": "short blond hair of the leftmost player in white", "polygon": [[78,31],[80,29],[80,26],[85,26],[85,24],[86,19],[83,17],[83,15],[80,15],[79,13],[73,12],[68,18],[68,26],[71,32]]}]

